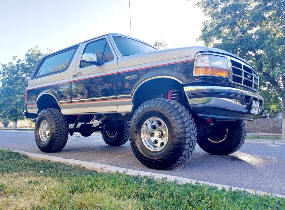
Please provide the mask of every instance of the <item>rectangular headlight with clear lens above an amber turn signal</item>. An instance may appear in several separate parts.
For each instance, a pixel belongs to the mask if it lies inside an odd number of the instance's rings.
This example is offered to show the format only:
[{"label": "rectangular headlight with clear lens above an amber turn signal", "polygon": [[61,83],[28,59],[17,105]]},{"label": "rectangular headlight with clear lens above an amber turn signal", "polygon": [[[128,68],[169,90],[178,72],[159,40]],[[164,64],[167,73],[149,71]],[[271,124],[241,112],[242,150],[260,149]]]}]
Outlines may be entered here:
[{"label": "rectangular headlight with clear lens above an amber turn signal", "polygon": [[217,55],[198,55],[194,75],[229,77],[228,59]]}]

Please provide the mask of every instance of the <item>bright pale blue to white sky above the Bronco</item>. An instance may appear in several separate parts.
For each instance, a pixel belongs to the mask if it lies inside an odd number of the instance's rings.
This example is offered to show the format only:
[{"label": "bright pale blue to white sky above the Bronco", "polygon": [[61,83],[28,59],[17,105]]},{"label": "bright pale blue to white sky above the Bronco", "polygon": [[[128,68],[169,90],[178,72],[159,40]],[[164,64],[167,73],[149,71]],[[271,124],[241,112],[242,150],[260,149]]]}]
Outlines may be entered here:
[{"label": "bright pale blue to white sky above the Bronco", "polygon": [[[198,0],[130,0],[132,36],[170,47],[197,46],[206,18]],[[0,63],[36,45],[57,51],[109,32],[130,36],[129,0],[1,0]]]}]

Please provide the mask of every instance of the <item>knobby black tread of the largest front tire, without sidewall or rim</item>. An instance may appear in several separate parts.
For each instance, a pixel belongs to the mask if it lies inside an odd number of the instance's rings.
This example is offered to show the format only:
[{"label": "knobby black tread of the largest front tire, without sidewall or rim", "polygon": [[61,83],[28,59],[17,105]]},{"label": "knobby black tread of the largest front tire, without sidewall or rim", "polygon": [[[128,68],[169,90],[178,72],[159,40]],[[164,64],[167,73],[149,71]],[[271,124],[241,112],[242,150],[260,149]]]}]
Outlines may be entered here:
[{"label": "knobby black tread of the largest front tire, without sidewall or rim", "polygon": [[[158,108],[165,112],[175,127],[175,148],[166,157],[160,160],[149,160],[145,158],[136,148],[132,132],[133,124],[141,112],[147,108]],[[133,153],[138,160],[147,167],[155,169],[170,169],[182,165],[194,152],[197,141],[197,128],[189,111],[178,102],[168,99],[152,99],[139,106],[131,118],[130,143]]]}]

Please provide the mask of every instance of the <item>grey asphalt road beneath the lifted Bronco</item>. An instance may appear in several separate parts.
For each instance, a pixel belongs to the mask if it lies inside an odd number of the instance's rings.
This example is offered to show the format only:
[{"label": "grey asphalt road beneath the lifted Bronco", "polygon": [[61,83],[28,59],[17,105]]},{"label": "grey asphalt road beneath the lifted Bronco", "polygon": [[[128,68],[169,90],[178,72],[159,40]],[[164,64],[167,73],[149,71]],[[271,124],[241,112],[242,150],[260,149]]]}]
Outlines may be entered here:
[{"label": "grey asphalt road beneath the lifted Bronco", "polygon": [[197,145],[184,165],[171,170],[147,168],[135,158],[129,142],[111,147],[100,135],[70,136],[62,151],[43,153],[36,146],[34,133],[0,131],[0,147],[285,195],[284,144],[246,142],[226,156],[209,155]]}]

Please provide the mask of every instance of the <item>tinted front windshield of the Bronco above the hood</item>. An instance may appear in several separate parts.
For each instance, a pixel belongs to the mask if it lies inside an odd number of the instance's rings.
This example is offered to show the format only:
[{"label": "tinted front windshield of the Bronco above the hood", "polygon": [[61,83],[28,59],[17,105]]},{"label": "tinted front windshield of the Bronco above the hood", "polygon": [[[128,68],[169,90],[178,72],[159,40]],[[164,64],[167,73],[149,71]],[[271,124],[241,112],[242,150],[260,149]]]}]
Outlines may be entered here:
[{"label": "tinted front windshield of the Bronco above the hood", "polygon": [[126,38],[122,36],[113,36],[113,40],[115,44],[117,45],[118,50],[123,56],[157,51],[152,46],[144,44],[143,42],[138,42],[133,39],[131,40],[130,38]]}]

